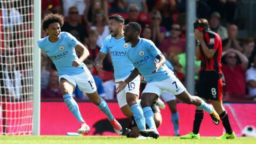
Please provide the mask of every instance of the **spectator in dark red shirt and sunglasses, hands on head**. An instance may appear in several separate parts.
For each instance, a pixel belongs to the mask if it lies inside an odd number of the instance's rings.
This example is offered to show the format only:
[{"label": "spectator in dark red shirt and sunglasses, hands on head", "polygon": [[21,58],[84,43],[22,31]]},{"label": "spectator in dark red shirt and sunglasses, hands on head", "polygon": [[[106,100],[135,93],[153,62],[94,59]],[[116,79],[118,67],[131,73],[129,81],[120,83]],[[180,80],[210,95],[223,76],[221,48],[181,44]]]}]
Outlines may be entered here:
[{"label": "spectator in dark red shirt and sunglasses, hands on head", "polygon": [[228,49],[226,52],[223,52],[222,56],[224,56],[222,72],[226,81],[224,94],[228,96],[226,99],[246,99],[245,72],[248,66],[248,58],[240,51],[232,48]]}]

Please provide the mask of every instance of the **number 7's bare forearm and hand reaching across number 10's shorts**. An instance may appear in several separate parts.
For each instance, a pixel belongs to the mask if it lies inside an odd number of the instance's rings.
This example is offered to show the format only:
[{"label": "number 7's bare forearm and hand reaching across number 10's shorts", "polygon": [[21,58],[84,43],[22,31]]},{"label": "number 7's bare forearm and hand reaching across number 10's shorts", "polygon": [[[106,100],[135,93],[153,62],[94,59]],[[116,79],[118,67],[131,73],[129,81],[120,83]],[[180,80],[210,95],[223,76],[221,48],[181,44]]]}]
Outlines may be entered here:
[{"label": "number 7's bare forearm and hand reaching across number 10's shorts", "polygon": [[116,94],[121,92],[125,88],[126,84],[128,84],[132,80],[134,80],[134,78],[136,78],[139,74],[140,74],[139,70],[137,68],[134,68],[134,70],[132,71],[130,76],[128,76],[128,78],[126,78],[126,80],[120,81],[120,82],[115,82],[116,84],[119,84],[115,90]]}]

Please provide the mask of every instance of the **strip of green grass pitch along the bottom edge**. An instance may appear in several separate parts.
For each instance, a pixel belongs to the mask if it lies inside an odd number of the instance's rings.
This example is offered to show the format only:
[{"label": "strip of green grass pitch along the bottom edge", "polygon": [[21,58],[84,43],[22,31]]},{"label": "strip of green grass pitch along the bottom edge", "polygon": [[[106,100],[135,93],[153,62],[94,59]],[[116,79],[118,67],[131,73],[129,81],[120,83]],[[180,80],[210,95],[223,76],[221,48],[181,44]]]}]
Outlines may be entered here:
[{"label": "strip of green grass pitch along the bottom edge", "polygon": [[256,144],[256,138],[180,140],[178,137],[160,137],[157,140],[136,140],[124,136],[0,136],[0,144]]}]

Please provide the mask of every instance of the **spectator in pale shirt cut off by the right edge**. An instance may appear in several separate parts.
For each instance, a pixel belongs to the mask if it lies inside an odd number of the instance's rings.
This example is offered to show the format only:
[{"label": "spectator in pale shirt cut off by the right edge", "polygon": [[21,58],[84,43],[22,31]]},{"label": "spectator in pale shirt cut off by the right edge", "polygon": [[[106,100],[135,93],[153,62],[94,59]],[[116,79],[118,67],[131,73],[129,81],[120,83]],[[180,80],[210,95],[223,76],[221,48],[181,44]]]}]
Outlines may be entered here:
[{"label": "spectator in pale shirt cut off by the right edge", "polygon": [[254,56],[254,66],[246,71],[246,82],[249,95],[256,101],[256,56]]}]

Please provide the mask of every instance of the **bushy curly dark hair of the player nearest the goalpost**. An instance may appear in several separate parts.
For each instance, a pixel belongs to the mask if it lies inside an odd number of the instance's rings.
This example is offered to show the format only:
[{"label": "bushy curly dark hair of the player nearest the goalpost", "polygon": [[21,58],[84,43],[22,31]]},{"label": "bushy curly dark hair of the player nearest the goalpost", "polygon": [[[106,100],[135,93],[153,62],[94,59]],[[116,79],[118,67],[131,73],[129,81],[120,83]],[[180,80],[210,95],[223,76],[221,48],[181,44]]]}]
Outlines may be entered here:
[{"label": "bushy curly dark hair of the player nearest the goalpost", "polygon": [[42,28],[43,30],[48,29],[49,25],[58,22],[60,24],[60,27],[64,24],[64,18],[62,15],[59,14],[49,14],[48,16],[44,17],[42,20]]}]

